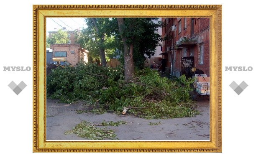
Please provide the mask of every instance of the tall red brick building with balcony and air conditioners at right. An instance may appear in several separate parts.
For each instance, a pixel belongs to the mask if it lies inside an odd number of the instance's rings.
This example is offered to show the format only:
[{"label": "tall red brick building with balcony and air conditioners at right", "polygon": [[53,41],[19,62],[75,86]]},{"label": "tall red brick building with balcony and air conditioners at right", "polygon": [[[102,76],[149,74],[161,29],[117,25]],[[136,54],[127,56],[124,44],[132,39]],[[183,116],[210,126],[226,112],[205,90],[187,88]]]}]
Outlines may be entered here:
[{"label": "tall red brick building with balcony and air conditioners at right", "polygon": [[162,18],[162,60],[173,76],[192,67],[210,76],[210,18]]}]

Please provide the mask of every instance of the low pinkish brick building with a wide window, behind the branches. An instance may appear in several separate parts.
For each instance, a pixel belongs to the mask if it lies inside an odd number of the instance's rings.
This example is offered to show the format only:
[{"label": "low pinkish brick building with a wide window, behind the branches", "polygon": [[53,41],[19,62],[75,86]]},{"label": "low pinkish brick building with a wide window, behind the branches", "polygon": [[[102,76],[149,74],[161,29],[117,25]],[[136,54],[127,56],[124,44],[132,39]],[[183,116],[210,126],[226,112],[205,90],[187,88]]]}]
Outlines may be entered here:
[{"label": "low pinkish brick building with a wide window, behind the branches", "polygon": [[88,51],[80,47],[80,44],[51,44],[52,57],[62,58],[76,65],[79,61],[88,62]]}]

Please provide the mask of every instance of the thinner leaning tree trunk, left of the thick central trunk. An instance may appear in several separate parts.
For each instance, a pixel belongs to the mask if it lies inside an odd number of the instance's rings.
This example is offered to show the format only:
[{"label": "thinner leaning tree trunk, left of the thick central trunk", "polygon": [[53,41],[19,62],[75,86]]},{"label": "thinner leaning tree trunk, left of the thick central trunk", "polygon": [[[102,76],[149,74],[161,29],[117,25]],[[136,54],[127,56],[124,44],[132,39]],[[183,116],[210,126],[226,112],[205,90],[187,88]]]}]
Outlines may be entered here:
[{"label": "thinner leaning tree trunk, left of the thick central trunk", "polygon": [[[104,40],[105,40],[105,35],[104,34],[100,35],[100,30],[97,26],[97,22],[96,22],[95,18],[92,18],[92,23],[93,23],[93,25],[96,29],[97,34],[100,36],[100,46],[102,46],[103,43],[104,43]],[[105,51],[101,47],[100,47],[100,60],[101,60],[101,66],[106,66],[107,65]]]}]

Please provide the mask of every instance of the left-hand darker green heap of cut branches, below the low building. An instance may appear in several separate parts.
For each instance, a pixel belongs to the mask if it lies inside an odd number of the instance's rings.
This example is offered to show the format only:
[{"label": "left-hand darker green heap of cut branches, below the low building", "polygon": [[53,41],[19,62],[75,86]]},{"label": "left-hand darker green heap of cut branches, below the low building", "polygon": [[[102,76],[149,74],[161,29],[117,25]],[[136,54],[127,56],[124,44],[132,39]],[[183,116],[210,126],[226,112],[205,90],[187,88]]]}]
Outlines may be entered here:
[{"label": "left-hand darker green heap of cut branches, below the low building", "polygon": [[73,102],[98,99],[103,87],[123,79],[123,69],[80,63],[75,67],[58,67],[46,78],[46,92],[52,99]]}]

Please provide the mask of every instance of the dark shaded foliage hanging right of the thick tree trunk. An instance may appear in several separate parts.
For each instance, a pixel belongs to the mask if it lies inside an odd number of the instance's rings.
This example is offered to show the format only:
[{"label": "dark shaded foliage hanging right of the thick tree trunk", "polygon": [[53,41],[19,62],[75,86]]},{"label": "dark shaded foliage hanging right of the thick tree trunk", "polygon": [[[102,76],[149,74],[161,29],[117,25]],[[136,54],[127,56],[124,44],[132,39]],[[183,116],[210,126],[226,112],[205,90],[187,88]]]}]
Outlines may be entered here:
[{"label": "dark shaded foliage hanging right of the thick tree trunk", "polygon": [[[161,26],[160,23],[154,23],[157,18],[125,18],[122,35],[126,42],[133,44],[133,60],[134,66],[138,69],[143,69],[145,64],[146,54],[148,57],[154,56],[156,46],[161,46],[161,36],[156,33]],[[121,63],[124,59],[121,58]]]}]

